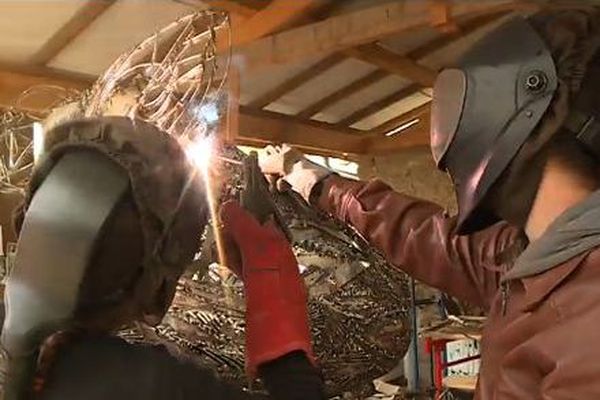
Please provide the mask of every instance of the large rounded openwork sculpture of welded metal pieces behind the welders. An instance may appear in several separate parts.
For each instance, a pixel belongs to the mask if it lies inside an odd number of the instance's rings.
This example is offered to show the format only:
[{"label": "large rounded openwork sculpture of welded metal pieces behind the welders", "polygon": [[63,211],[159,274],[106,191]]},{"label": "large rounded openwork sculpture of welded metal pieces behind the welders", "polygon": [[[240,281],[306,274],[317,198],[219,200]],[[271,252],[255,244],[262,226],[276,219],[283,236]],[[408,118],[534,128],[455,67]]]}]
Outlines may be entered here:
[{"label": "large rounded openwork sculpture of welded metal pieces behind the welders", "polygon": [[[229,54],[222,46],[229,36],[225,14],[186,16],[121,56],[90,93],[51,114],[46,127],[81,116],[125,115],[153,123],[182,146],[214,136],[216,123],[203,117],[202,108],[211,104],[223,112]],[[219,151],[233,160],[245,157],[231,146]],[[241,167],[225,168],[220,201],[236,198],[241,187]],[[328,391],[369,393],[371,381],[393,368],[409,345],[407,278],[351,227],[291,191],[273,196],[309,289],[315,353]],[[209,267],[216,261],[211,229],[207,226],[199,258],[181,279],[163,323],[131,327],[121,335],[164,344],[230,381],[252,386],[244,373],[242,285],[214,264]]]}]

